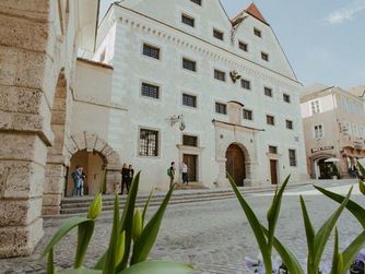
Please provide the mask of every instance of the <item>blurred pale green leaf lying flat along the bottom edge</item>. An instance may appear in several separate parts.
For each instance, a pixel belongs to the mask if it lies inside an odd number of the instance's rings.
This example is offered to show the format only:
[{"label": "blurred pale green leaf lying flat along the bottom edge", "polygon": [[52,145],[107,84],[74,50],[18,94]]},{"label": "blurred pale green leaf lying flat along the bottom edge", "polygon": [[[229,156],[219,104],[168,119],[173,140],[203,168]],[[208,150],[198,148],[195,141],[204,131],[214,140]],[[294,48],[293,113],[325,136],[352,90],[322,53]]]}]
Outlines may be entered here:
[{"label": "blurred pale green leaf lying flat along the bottom edge", "polygon": [[192,271],[193,267],[185,263],[148,261],[133,264],[119,274],[188,274]]}]

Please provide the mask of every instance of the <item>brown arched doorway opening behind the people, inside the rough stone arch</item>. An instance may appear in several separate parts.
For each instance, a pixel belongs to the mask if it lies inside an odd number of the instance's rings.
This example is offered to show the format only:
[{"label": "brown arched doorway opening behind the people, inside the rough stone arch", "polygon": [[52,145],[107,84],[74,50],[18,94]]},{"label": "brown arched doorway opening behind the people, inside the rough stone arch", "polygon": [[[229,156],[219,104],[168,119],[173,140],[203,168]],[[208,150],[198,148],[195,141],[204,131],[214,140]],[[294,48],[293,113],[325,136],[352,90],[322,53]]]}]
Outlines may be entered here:
[{"label": "brown arched doorway opening behind the people, inside the rough stone arch", "polygon": [[73,180],[71,174],[76,166],[83,167],[85,174],[83,194],[94,195],[101,188],[105,192],[105,168],[106,159],[98,152],[87,152],[86,150],[76,152],[70,160],[68,181],[64,190],[66,196],[71,196],[73,191]]}]

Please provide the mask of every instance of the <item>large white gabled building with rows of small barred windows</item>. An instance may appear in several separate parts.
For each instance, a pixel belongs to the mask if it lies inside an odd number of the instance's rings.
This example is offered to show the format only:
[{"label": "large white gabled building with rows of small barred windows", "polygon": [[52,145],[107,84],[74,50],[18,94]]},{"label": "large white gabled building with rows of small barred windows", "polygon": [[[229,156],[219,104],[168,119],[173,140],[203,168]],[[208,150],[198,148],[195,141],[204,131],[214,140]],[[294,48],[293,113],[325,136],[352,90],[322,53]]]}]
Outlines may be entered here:
[{"label": "large white gabled building with rows of small barred windows", "polygon": [[307,177],[302,85],[254,3],[233,20],[219,0],[114,3],[89,57],[114,68],[127,111],[109,110],[105,138],[142,190],[167,189],[172,160],[205,187]]}]

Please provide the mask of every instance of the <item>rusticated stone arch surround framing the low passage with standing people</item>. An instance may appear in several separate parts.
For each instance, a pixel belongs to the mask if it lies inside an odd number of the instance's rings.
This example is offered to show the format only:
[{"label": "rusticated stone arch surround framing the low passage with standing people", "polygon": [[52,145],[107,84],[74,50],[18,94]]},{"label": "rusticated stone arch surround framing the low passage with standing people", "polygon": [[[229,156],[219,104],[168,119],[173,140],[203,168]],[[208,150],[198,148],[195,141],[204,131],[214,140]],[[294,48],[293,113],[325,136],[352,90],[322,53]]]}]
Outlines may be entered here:
[{"label": "rusticated stone arch surround framing the low passage with standing people", "polygon": [[120,157],[106,141],[95,133],[80,132],[69,139],[68,151],[68,166],[70,166],[72,155],[78,152],[85,151],[101,155],[105,163],[105,193],[114,193],[119,190],[121,181]]}]

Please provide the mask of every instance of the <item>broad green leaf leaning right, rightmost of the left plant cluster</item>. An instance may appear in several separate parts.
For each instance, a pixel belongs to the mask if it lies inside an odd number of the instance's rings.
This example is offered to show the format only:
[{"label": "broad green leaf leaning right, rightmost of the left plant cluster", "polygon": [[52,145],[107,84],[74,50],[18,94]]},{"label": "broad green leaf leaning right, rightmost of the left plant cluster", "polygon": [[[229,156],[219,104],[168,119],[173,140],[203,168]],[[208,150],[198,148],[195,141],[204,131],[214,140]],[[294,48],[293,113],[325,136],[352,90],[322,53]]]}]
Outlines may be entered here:
[{"label": "broad green leaf leaning right, rightmost of the left plant cluster", "polygon": [[130,261],[131,265],[139,262],[143,262],[148,259],[151,249],[153,248],[153,245],[156,241],[160,226],[164,217],[167,204],[173,195],[174,188],[175,187],[173,186],[173,188],[169,189],[158,210],[144,227],[140,238],[134,242],[133,254]]}]

